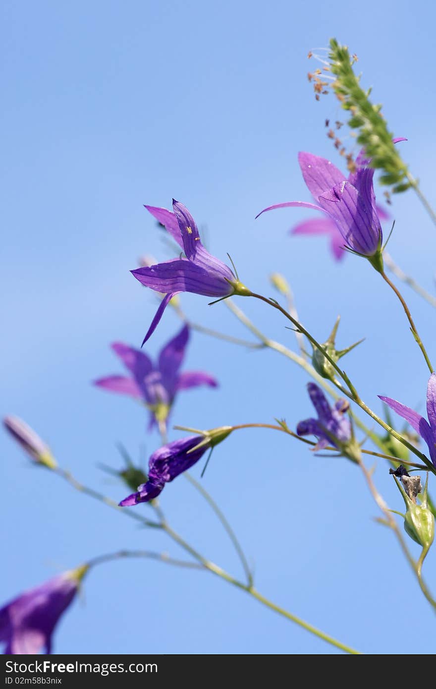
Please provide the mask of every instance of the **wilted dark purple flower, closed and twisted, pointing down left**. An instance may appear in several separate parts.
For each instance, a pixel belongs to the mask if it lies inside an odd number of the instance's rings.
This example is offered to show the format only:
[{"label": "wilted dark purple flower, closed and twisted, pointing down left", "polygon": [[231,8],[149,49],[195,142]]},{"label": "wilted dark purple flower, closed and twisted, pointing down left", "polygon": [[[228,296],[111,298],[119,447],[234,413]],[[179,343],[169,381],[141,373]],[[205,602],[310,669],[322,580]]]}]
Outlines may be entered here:
[{"label": "wilted dark purple flower, closed and twisted, pointing down left", "polygon": [[[172,481],[183,471],[187,471],[203,457],[211,444],[204,442],[201,435],[189,435],[181,440],[173,440],[160,447],[149,458],[148,481],[138,486],[137,493],[121,500],[121,507],[136,505],[138,502],[149,502],[163,491],[166,483]],[[194,449],[197,445],[200,445]]]}]

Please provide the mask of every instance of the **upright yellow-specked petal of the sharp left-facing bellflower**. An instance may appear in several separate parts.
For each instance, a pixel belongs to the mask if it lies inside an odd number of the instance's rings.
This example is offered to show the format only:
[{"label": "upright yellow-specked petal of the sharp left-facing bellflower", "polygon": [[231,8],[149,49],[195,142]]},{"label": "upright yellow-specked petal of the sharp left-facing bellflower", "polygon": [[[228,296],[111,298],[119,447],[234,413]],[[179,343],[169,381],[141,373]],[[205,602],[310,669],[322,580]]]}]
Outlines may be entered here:
[{"label": "upright yellow-specked petal of the sharp left-facing bellflower", "polygon": [[187,207],[180,203],[180,201],[173,199],[173,208],[180,227],[180,234],[183,238],[183,246],[187,258],[198,267],[205,269],[205,271],[217,274],[222,280],[234,282],[236,277],[230,268],[225,263],[222,263],[219,258],[209,254],[209,251],[203,247],[198,227]]}]

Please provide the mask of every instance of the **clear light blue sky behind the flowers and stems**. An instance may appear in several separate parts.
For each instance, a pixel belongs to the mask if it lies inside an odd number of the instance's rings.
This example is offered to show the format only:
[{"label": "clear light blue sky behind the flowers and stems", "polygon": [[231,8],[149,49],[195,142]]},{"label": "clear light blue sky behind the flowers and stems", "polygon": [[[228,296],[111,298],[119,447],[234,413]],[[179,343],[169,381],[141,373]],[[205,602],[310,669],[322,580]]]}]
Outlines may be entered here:
[{"label": "clear light blue sky behind the flowers and stems", "polygon": [[[434,8],[420,0],[369,0],[352,11],[332,11],[320,0],[6,0],[1,12],[3,415],[24,418],[80,480],[124,497],[96,464],[120,466],[120,440],[134,457],[142,447],[144,462],[158,435],[145,433],[134,402],[90,381],[121,373],[110,342],[141,344],[156,300],[129,269],[144,252],[168,257],[143,203],[168,207],[172,196],[207,224],[211,250],[221,258],[229,251],[251,289],[273,294],[269,273],[287,276],[304,324],[320,340],[338,313],[340,345],[366,336],[347,370],[376,411],[377,394],[423,409],[424,360],[375,271],[352,256],[333,263],[323,238],[287,236],[309,211],[254,216],[271,203],[310,200],[299,150],[341,164],[324,128],[326,117],[341,112],[331,97],[315,103],[306,76],[309,48],[332,35],[359,56],[364,85],[383,101],[395,135],[408,137],[404,158],[434,200]],[[395,198],[393,215],[391,254],[434,293],[435,228],[413,192]],[[434,359],[435,311],[407,287],[404,294]],[[249,300],[238,304],[271,337],[294,344],[278,314]],[[207,299],[187,295],[183,308],[203,325],[245,336],[224,305],[209,308]],[[147,352],[179,327],[168,311]],[[312,413],[307,376],[271,351],[194,333],[186,368],[211,371],[220,388],[180,395],[178,424],[280,416],[294,426]],[[99,553],[180,555],[165,536],[30,466],[6,433],[0,443],[5,601]],[[382,460],[375,480],[401,509]],[[375,523],[362,475],[346,460],[317,459],[272,431],[241,431],[215,451],[203,484],[238,533],[264,595],[364,652],[434,652],[434,615],[393,535]],[[183,478],[161,502],[200,551],[240,572],[214,515]],[[147,505],[137,509],[150,513]],[[425,573],[436,590],[434,553]],[[220,579],[146,561],[94,570],[61,621],[54,651],[335,652]]]}]

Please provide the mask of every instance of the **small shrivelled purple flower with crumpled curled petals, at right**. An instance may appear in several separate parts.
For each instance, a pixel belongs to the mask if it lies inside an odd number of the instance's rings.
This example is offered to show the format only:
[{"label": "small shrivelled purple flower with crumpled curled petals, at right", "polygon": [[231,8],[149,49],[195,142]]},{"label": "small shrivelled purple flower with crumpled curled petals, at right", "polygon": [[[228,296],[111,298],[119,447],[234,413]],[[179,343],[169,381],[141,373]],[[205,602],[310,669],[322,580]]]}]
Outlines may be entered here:
[{"label": "small shrivelled purple flower with crumpled curled petals, at right", "polygon": [[349,409],[346,400],[337,400],[331,409],[322,389],[315,383],[308,383],[307,390],[313,407],[315,407],[318,419],[306,419],[300,421],[297,426],[298,435],[315,435],[318,443],[315,450],[320,450],[327,445],[333,445],[340,449],[340,444],[351,440],[351,424],[345,413]]}]

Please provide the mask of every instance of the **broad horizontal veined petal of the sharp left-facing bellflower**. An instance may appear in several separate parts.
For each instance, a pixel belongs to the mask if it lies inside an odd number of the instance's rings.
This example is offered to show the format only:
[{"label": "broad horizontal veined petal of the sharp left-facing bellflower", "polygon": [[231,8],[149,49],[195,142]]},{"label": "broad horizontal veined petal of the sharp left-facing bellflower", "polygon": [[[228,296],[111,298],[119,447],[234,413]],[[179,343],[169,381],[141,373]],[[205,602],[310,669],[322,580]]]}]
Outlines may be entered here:
[{"label": "broad horizontal veined petal of the sharp left-facing bellflower", "polygon": [[207,297],[222,297],[233,292],[233,287],[222,276],[181,258],[131,272],[141,285],[163,294],[193,292]]}]

